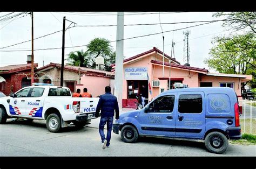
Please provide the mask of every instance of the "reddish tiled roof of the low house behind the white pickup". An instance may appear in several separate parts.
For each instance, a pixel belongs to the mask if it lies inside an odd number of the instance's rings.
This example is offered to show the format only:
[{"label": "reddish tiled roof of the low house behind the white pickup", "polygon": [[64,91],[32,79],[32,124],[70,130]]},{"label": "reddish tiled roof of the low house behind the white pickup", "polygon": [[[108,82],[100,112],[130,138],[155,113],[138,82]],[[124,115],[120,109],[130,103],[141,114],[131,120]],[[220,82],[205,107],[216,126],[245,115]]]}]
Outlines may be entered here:
[{"label": "reddish tiled roof of the low house behind the white pickup", "polygon": [[[51,67],[57,67],[57,68],[61,68],[62,65],[61,64],[55,64],[55,63],[50,63],[48,65],[45,65],[41,68],[38,68],[37,71],[44,71],[44,69],[47,68],[51,68]],[[97,76],[114,76],[113,73],[111,72],[107,72],[107,71],[100,71],[97,69],[91,69],[91,68],[86,68],[86,67],[79,67],[79,66],[71,66],[71,65],[64,65],[64,69],[69,70],[69,71],[75,71],[75,72],[79,72],[82,74],[86,74],[86,75],[97,75]]]}]

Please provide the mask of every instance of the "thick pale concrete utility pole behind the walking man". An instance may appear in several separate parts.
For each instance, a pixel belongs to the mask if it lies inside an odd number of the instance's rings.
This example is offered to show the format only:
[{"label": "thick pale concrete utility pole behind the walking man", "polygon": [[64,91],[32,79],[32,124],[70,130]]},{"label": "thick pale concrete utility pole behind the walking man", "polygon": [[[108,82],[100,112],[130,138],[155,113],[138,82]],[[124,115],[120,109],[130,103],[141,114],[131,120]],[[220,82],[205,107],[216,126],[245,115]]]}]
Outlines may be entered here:
[{"label": "thick pale concrete utility pole behind the walking man", "polygon": [[122,111],[123,58],[124,58],[124,12],[117,12],[116,68],[114,73],[114,95],[117,96],[119,111]]}]

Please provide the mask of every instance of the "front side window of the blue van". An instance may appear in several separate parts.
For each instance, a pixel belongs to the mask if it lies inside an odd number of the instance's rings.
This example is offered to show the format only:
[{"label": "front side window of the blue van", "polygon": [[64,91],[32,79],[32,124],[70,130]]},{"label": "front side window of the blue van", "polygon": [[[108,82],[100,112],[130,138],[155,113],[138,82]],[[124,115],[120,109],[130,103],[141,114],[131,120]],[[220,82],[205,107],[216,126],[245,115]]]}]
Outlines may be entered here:
[{"label": "front side window of the blue van", "polygon": [[172,112],[175,96],[167,95],[158,97],[149,105],[149,112]]}]

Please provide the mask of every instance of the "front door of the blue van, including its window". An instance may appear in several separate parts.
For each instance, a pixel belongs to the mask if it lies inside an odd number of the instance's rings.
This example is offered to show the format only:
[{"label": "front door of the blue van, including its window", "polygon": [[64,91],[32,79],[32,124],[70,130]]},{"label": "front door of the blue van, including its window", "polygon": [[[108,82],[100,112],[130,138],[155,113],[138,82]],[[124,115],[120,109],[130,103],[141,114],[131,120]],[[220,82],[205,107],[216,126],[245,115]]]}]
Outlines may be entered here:
[{"label": "front door of the blue van, including its window", "polygon": [[175,136],[174,100],[176,94],[160,96],[139,114],[140,131],[144,135]]}]

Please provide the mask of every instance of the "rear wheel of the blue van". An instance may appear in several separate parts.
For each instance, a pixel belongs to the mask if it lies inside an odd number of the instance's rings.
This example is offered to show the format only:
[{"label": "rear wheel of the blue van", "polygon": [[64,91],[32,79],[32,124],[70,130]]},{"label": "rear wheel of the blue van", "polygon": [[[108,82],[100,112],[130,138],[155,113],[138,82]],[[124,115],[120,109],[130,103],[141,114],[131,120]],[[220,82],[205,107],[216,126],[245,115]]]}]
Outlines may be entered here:
[{"label": "rear wheel of the blue van", "polygon": [[221,154],[228,146],[227,137],[221,132],[210,132],[205,138],[206,149],[212,153]]}]

